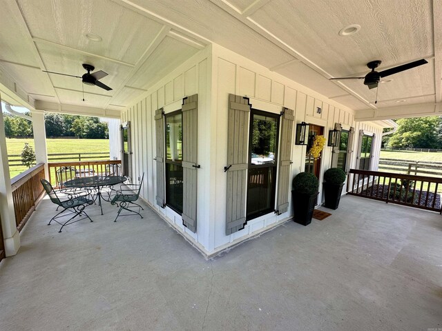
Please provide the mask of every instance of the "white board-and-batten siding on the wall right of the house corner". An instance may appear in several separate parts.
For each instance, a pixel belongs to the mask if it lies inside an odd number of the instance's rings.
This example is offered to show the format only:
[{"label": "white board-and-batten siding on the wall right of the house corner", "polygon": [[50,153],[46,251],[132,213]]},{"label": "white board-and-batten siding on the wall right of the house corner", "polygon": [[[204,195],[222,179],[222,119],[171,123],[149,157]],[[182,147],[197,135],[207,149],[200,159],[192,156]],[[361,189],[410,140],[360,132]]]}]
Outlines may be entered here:
[{"label": "white board-and-batten siding on the wall right of the house corner", "polygon": [[[326,139],[328,139],[329,130],[334,128],[334,123],[341,123],[345,130],[349,130],[352,126],[357,128],[357,126],[354,121],[353,110],[220,46],[213,47],[212,68],[214,77],[213,96],[215,97],[213,102],[215,109],[213,109],[212,112],[213,121],[216,123],[216,131],[214,132],[216,147],[215,150],[212,150],[212,153],[215,159],[216,171],[215,178],[212,178],[211,181],[216,185],[215,197],[214,199],[212,198],[213,201],[216,201],[216,204],[215,214],[213,214],[213,218],[209,220],[211,222],[210,228],[214,229],[213,239],[209,241],[209,250],[218,251],[238,241],[252,237],[291,217],[291,179],[298,172],[304,171],[306,152],[305,146],[294,145],[296,123],[306,121],[307,123],[323,126]],[[287,208],[287,211],[284,212],[284,209],[282,209],[280,215],[272,212],[248,221],[242,230],[232,232],[231,234],[229,234],[229,232],[226,233],[226,217],[229,217],[228,214],[231,213],[229,210],[231,206],[229,206],[227,202],[230,197],[227,192],[229,192],[231,188],[229,187],[230,184],[227,174],[223,171],[224,167],[230,164],[228,161],[228,141],[230,139],[229,94],[248,97],[251,108],[259,110],[273,113],[277,111],[280,112],[283,108],[294,110],[293,126],[291,132],[287,133],[291,134],[292,141],[290,155],[287,159],[283,157],[282,154],[279,155],[280,161],[284,161],[285,163],[287,163],[287,161],[288,163],[293,162],[293,164],[287,166],[287,168],[289,168],[289,183],[285,188],[282,187],[282,183],[278,183],[276,188],[278,192],[276,208],[278,207],[278,196],[282,197],[282,191],[287,191],[287,197],[289,199],[288,205],[281,203],[281,205]],[[318,108],[320,108],[319,111]],[[371,132],[382,131],[381,128],[376,128],[369,124],[365,125],[370,127]],[[249,134],[248,131],[247,134]],[[281,139],[282,141],[288,139],[288,137],[282,137],[281,134],[284,134],[284,130],[282,130],[282,132],[280,130],[280,142]],[[246,143],[247,146],[244,146],[244,149],[248,150],[248,135]],[[330,168],[331,157],[332,148],[325,146],[321,159],[321,174]],[[356,156],[352,159],[352,163],[355,164],[355,162]],[[279,166],[278,174],[281,173],[281,169],[282,172],[285,171],[284,168]],[[227,171],[227,173],[228,172],[229,171]],[[322,181],[322,176],[320,180]],[[320,190],[321,189],[322,185],[320,185]]]}]

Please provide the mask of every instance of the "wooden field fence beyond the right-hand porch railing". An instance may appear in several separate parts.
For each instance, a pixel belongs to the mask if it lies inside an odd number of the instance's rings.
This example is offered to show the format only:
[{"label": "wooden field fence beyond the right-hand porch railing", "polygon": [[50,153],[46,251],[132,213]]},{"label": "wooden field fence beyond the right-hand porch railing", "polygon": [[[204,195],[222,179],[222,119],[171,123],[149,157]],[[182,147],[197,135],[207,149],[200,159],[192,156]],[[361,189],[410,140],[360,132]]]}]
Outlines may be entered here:
[{"label": "wooden field fence beyond the right-hand porch railing", "polygon": [[430,174],[442,176],[442,162],[379,159],[379,170],[403,172],[406,174]]}]

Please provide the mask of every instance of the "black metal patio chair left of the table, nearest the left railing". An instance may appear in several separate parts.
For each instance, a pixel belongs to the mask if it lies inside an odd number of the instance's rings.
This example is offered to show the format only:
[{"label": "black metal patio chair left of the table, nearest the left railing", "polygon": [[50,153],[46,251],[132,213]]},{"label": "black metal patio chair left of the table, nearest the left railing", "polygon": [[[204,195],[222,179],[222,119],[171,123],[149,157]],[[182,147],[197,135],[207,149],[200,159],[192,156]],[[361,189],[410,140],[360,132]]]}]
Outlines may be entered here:
[{"label": "black metal patio chair left of the table, nearest the left railing", "polygon": [[[64,195],[64,198],[66,199],[60,200],[59,197],[57,196],[57,192],[55,192],[54,188],[52,188],[52,185],[50,185],[50,183],[46,181],[46,179],[43,178],[41,179],[41,185],[43,185],[44,190],[50,197],[50,201],[52,201],[52,203],[55,203],[59,207],[63,208],[61,212],[59,212],[54,217],[52,217],[52,219],[50,219],[48,225],[50,225],[52,221],[59,223],[59,225],[61,225],[59,232],[61,232],[61,230],[66,225],[81,221],[82,219],[86,218],[90,219],[89,215],[86,214],[86,212],[84,211],[84,208],[86,208],[87,205],[92,205],[94,203],[93,195],[91,194],[90,190],[84,190],[84,191],[77,190],[75,194]],[[65,222],[59,221],[58,219],[60,219],[61,217],[65,217],[64,215],[61,214],[63,214],[66,211],[71,212],[73,214],[73,217],[70,217],[70,219],[68,219]],[[75,221],[73,220],[75,219],[75,217],[81,216],[83,214],[85,215],[85,217],[83,217],[82,219],[76,219]],[[90,221],[93,222],[92,219],[90,219]]]}]

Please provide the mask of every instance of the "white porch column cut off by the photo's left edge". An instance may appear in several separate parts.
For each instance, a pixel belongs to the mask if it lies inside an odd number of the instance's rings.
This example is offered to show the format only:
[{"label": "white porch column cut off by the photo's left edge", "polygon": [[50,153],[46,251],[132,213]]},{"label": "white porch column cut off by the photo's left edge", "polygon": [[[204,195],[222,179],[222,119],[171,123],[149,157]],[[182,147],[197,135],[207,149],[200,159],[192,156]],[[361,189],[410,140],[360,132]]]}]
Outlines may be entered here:
[{"label": "white porch column cut off by the photo's left edge", "polygon": [[[1,100],[1,96],[0,96]],[[20,248],[20,234],[15,223],[14,201],[12,200],[11,177],[6,149],[5,123],[0,103],[0,216],[3,229],[6,257],[17,254]]]}]

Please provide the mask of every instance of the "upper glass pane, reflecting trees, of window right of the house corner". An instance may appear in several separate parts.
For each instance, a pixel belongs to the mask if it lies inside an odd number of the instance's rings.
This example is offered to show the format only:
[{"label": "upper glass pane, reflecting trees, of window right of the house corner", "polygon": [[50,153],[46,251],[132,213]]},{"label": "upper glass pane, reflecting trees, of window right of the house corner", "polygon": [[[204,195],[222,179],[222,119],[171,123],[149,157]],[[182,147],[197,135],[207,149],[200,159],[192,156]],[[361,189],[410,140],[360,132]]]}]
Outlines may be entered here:
[{"label": "upper glass pane, reflecting trees, of window right of the house corner", "polygon": [[251,136],[251,164],[275,163],[276,144],[278,143],[278,119],[253,114]]}]

